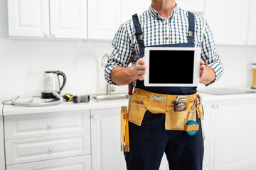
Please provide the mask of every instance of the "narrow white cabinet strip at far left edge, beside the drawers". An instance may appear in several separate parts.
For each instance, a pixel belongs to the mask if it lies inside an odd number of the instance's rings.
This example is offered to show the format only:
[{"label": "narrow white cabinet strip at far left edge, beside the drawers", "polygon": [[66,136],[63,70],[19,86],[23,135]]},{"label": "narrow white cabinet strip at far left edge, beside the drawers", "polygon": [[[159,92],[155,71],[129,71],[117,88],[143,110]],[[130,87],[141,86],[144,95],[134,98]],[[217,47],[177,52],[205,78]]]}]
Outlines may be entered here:
[{"label": "narrow white cabinet strip at far left edge, beside the drawers", "polygon": [[4,125],[3,125],[3,116],[0,113],[0,170],[5,170],[5,166],[4,165],[5,165],[5,157],[4,157]]}]

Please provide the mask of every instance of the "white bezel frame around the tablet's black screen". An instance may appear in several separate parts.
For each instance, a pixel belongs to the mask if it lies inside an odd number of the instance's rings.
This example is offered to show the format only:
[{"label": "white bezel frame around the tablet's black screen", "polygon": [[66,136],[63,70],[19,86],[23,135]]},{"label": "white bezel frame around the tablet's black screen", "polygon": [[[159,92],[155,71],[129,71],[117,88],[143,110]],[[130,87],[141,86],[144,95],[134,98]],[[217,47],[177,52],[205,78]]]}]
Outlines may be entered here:
[{"label": "white bezel frame around the tablet's black screen", "polygon": [[[150,84],[149,83],[149,52],[151,50],[178,50],[178,51],[194,51],[193,62],[193,83],[192,84]],[[200,72],[200,60],[201,49],[199,47],[145,47],[144,51],[146,62],[146,74],[144,75],[144,86],[198,86],[199,84],[199,72]],[[167,57],[167,56],[166,56]],[[168,56],[172,57],[172,56]]]}]

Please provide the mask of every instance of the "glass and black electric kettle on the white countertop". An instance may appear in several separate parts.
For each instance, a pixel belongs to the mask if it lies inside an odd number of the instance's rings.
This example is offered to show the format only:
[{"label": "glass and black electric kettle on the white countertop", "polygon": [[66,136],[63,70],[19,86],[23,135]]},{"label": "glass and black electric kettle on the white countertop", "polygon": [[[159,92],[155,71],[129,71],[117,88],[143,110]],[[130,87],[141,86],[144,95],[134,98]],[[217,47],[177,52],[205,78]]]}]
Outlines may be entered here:
[{"label": "glass and black electric kettle on the white countertop", "polygon": [[[60,86],[59,76],[63,77],[63,84]],[[42,98],[56,98],[53,96],[52,91],[60,94],[60,91],[65,86],[66,77],[60,71],[46,71],[43,75],[43,90],[41,91]]]}]

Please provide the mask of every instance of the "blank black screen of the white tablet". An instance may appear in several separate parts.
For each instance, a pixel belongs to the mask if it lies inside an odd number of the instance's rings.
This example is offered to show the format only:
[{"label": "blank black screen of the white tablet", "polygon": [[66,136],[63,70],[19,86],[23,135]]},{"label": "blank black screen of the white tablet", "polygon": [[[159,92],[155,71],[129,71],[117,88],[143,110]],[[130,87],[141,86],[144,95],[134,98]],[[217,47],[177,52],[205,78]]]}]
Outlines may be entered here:
[{"label": "blank black screen of the white tablet", "polygon": [[193,50],[150,50],[150,84],[193,84]]}]

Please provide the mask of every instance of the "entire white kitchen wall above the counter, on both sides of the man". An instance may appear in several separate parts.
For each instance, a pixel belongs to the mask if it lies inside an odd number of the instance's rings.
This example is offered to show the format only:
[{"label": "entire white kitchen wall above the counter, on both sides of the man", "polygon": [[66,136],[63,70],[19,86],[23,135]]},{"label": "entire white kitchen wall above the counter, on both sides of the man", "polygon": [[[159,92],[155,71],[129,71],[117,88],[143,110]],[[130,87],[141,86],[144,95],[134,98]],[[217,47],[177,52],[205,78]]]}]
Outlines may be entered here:
[{"label": "entire white kitchen wall above the counter, on both sides of the man", "polygon": [[[111,50],[111,42],[9,40],[7,0],[0,0],[0,99],[40,95],[43,72],[57,69],[67,76],[63,93],[103,94],[101,60]],[[256,47],[218,46],[218,52],[225,74],[212,86],[250,86]],[[118,86],[116,92],[127,92],[127,86]]]}]

